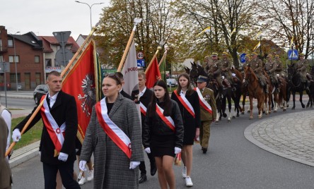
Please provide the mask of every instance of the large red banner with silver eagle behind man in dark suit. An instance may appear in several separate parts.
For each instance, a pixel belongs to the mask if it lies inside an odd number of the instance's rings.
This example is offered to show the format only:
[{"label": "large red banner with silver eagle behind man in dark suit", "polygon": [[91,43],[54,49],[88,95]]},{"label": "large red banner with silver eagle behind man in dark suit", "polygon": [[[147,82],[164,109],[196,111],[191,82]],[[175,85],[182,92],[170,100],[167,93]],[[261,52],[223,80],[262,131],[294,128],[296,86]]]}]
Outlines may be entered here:
[{"label": "large red banner with silver eagle behind man in dark suit", "polygon": [[[86,45],[69,73],[64,76],[62,91],[74,96],[78,115],[80,141],[85,138],[93,105],[100,100],[101,71],[97,61],[95,42]],[[79,135],[78,135],[79,136]],[[81,140],[82,139],[82,140]]]}]

